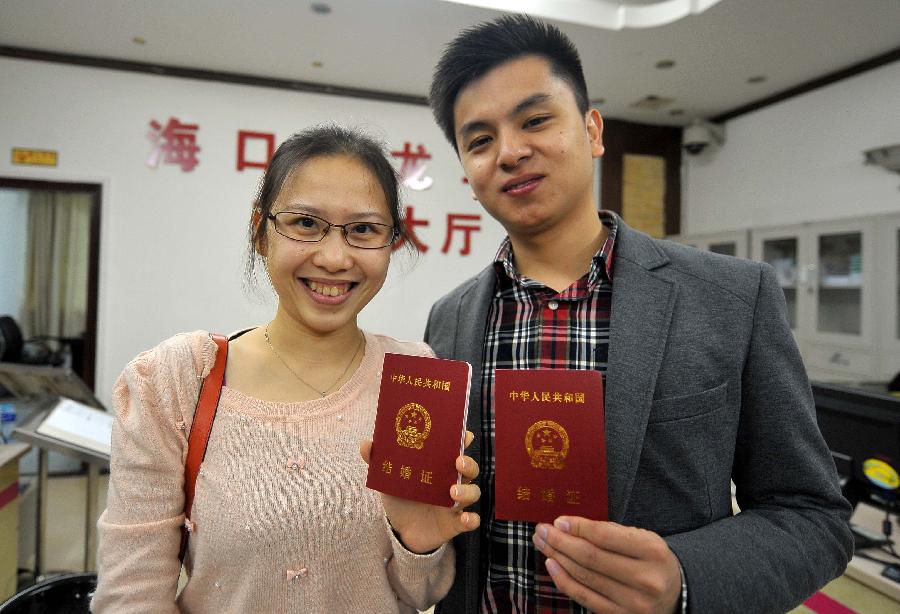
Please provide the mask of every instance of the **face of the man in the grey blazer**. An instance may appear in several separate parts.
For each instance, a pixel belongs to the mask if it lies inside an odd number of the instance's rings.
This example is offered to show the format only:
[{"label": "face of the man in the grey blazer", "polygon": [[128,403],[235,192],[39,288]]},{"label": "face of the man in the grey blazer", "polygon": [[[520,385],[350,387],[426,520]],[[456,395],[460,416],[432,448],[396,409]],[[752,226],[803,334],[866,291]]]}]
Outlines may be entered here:
[{"label": "face of the man in the grey blazer", "polygon": [[546,59],[525,56],[497,66],[461,90],[453,110],[469,185],[511,237],[596,216],[600,114],[581,114]]}]

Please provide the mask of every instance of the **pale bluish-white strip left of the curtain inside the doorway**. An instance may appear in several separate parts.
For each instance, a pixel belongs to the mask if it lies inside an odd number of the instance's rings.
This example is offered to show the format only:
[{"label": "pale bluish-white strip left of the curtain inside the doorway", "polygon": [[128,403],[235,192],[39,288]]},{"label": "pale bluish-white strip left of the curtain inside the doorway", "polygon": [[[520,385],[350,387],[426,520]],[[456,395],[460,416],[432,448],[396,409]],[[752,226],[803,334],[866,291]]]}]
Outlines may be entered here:
[{"label": "pale bluish-white strip left of the curtain inside the doorway", "polygon": [[28,192],[0,190],[0,316],[21,322],[25,302]]}]

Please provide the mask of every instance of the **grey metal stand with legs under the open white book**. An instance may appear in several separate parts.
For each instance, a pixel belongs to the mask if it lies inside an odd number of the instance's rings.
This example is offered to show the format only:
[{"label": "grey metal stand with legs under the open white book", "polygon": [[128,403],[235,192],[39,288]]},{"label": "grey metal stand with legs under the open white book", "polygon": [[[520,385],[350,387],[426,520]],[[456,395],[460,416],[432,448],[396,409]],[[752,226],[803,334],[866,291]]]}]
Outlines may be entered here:
[{"label": "grey metal stand with legs under the open white book", "polygon": [[96,569],[97,557],[97,485],[100,481],[100,468],[109,467],[109,456],[82,448],[66,441],[48,437],[37,432],[49,412],[42,411],[34,415],[28,422],[13,430],[13,437],[29,443],[38,449],[38,490],[37,490],[37,523],[34,533],[34,575],[40,576],[43,569],[43,545],[47,528],[47,463],[50,451],[77,458],[87,464],[87,501],[84,526],[84,571]]}]

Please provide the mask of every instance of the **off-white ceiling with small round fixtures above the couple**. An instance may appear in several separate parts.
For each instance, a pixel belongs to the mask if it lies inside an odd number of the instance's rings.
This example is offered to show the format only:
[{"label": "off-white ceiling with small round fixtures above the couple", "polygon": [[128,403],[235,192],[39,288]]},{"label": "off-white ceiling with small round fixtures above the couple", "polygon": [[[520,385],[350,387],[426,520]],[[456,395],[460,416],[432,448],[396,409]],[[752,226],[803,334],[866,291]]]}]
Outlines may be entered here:
[{"label": "off-white ceiling with small round fixtures above the couple", "polygon": [[[500,14],[441,0],[0,0],[0,46],[421,97],[443,45]],[[555,23],[601,112],[650,124],[719,116],[900,48],[900,0],[721,0],[655,28]],[[648,96],[672,101],[632,106]]]}]

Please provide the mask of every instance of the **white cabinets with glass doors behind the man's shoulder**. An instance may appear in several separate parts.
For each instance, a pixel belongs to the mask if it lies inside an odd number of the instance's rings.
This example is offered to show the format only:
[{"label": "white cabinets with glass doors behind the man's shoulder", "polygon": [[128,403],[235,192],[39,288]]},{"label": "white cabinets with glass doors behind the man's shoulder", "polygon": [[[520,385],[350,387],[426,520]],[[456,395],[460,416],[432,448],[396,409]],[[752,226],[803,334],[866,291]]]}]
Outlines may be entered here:
[{"label": "white cabinets with glass doors behind the man's shoulder", "polygon": [[811,379],[900,372],[900,214],[669,238],[771,264]]}]

